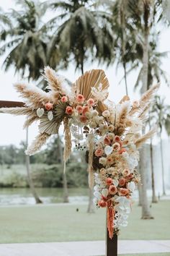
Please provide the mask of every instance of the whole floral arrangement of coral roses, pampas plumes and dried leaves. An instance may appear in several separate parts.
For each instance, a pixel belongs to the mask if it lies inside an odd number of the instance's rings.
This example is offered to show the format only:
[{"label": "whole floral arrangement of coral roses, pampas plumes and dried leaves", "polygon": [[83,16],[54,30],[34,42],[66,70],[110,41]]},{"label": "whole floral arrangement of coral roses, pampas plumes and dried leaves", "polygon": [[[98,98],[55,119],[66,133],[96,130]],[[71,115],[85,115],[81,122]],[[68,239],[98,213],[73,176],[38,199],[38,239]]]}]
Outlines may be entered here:
[{"label": "whole floral arrangement of coral roses, pampas plumes and dried leaves", "polygon": [[141,130],[159,85],[142,95],[140,101],[130,103],[128,96],[124,96],[115,104],[107,100],[109,82],[101,69],[86,72],[73,83],[71,90],[50,67],[45,68],[44,76],[48,93],[17,83],[14,86],[25,99],[25,106],[1,108],[1,111],[26,115],[24,127],[39,121],[40,134],[27,148],[28,155],[40,150],[63,123],[65,168],[72,142],[77,150],[86,150],[89,186],[94,187],[97,208],[107,208],[107,228],[112,238],[114,232],[118,234],[128,224],[131,197],[140,180],[135,169],[138,148],[155,132],[152,129],[142,135]]}]

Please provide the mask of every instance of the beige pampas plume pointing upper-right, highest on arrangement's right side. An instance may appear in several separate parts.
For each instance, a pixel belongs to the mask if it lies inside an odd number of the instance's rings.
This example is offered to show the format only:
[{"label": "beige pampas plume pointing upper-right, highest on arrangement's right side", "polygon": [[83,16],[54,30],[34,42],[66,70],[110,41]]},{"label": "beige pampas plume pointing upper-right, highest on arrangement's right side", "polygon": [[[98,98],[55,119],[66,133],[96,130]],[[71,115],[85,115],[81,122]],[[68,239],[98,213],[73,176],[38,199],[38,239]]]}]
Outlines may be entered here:
[{"label": "beige pampas plume pointing upper-right, highest on arrangement's right side", "polygon": [[140,111],[141,109],[145,108],[146,106],[148,106],[149,108],[159,87],[160,87],[160,83],[158,83],[157,85],[153,85],[149,90],[146,91],[146,93],[143,93],[139,101],[140,103],[139,108],[132,108],[130,110],[130,116]]}]

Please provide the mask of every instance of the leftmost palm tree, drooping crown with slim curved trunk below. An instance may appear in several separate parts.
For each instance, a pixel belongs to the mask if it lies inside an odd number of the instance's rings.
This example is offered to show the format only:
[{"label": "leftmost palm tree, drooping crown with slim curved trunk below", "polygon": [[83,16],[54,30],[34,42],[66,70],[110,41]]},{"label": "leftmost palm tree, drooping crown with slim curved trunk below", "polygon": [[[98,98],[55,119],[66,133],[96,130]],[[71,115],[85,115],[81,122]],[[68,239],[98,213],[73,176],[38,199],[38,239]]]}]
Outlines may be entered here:
[{"label": "leftmost palm tree, drooping crown with slim curved trunk below", "polygon": [[[45,29],[40,28],[45,10],[33,1],[22,0],[19,3],[22,4],[22,11],[12,9],[11,12],[4,14],[8,26],[1,33],[1,40],[5,43],[0,48],[0,54],[8,52],[3,63],[5,71],[12,66],[22,77],[27,74],[28,80],[37,80],[40,77],[40,70],[47,64],[47,36]],[[37,203],[42,202],[37,197],[32,182],[29,156],[26,157],[26,166],[32,195]]]}]

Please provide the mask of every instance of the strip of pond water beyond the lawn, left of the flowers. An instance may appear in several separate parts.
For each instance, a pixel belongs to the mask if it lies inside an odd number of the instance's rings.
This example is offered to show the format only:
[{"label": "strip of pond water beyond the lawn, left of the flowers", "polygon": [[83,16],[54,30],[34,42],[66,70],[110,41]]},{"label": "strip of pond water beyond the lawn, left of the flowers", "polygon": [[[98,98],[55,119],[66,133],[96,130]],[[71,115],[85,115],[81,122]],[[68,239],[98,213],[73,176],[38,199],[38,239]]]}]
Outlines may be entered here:
[{"label": "strip of pond water beyond the lawn, left of the flowers", "polygon": [[[44,204],[63,202],[62,188],[37,188],[37,195]],[[68,189],[69,202],[88,202],[87,188]],[[0,188],[0,205],[35,205],[29,188]]]}]

